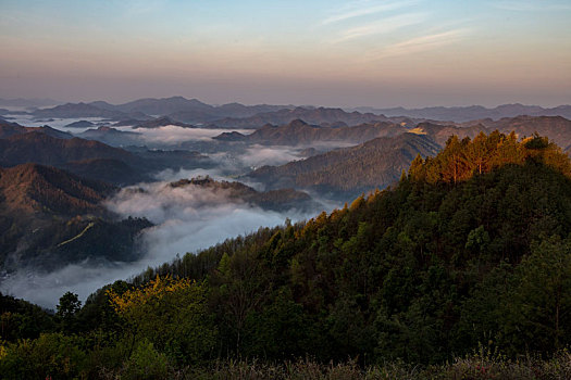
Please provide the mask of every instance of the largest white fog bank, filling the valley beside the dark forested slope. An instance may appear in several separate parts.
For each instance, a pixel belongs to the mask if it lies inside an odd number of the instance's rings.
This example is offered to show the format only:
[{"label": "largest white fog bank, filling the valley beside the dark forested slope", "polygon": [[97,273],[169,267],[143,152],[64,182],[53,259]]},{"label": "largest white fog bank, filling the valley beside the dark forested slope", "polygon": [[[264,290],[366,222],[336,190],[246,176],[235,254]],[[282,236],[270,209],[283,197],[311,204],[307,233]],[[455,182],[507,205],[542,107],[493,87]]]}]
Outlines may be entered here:
[{"label": "largest white fog bank, filling the valley beside the dark forested slope", "polygon": [[[139,238],[145,252],[139,261],[108,265],[82,263],[67,265],[48,274],[21,269],[2,281],[2,292],[48,308],[54,308],[60,296],[66,291],[77,293],[85,301],[90,293],[104,284],[117,279],[127,279],[149,266],[154,267],[169,262],[176,254],[196,252],[227,238],[256,231],[261,226],[283,225],[286,218],[302,220],[321,212],[264,211],[232,201],[224,191],[212,192],[195,186],[172,188],[167,185],[178,176],[187,178],[207,174],[219,177],[216,172],[203,170],[163,173],[167,181],[125,188],[107,201],[107,207],[123,217],[147,217],[156,224]],[[140,192],[137,188],[145,191]]]}]

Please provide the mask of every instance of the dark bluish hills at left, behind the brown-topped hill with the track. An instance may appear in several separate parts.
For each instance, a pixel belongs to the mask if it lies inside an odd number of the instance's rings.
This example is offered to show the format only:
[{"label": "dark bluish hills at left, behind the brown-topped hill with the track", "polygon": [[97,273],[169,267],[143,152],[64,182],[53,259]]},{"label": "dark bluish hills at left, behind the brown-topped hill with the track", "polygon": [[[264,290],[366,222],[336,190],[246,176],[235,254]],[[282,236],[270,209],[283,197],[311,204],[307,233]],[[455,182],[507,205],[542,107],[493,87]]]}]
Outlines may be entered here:
[{"label": "dark bluish hills at left, behind the brown-topped hill with the track", "polygon": [[[2,126],[0,126],[2,127]],[[3,127],[2,127],[3,128]],[[0,138],[0,166],[38,163],[69,169],[91,179],[115,185],[131,185],[150,180],[153,173],[165,168],[209,167],[211,163],[197,152],[137,149],[128,152],[96,140],[71,138],[69,134],[51,128],[26,128],[10,125]],[[60,136],[63,134],[63,136]],[[98,129],[86,134],[90,138],[112,138],[112,129]],[[132,135],[125,136],[133,141]],[[94,136],[95,135],[95,136]],[[116,132],[114,134],[116,135]],[[58,136],[58,137],[53,137]],[[64,138],[60,138],[64,137]]]}]

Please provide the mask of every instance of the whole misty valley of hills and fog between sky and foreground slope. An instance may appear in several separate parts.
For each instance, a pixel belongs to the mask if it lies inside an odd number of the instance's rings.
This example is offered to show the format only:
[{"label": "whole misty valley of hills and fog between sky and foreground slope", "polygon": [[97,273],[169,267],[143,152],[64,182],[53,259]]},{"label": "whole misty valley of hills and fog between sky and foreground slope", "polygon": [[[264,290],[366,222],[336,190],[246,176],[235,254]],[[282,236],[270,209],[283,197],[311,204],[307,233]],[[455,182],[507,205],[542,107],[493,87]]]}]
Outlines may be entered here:
[{"label": "whole misty valley of hills and fog between sky and foreground slope", "polygon": [[452,135],[539,134],[571,147],[562,116],[456,123],[174,97],[2,117],[0,288],[33,294],[20,284],[32,276],[46,289],[36,301],[48,307],[69,268],[91,274],[87,296],[109,281],[91,268],[126,278],[261,226],[331,212],[395,186],[417,156],[435,156]]}]

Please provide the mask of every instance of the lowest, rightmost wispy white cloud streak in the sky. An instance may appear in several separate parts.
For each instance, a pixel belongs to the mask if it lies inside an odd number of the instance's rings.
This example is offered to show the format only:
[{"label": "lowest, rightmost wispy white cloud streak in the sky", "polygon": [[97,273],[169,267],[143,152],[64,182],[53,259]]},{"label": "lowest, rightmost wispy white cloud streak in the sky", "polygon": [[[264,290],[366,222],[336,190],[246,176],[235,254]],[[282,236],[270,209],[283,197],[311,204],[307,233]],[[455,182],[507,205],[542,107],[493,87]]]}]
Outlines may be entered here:
[{"label": "lowest, rightmost wispy white cloud streak in the sky", "polygon": [[469,33],[467,28],[458,28],[432,35],[414,37],[406,41],[397,42],[377,50],[371,54],[372,59],[380,59],[393,55],[405,55],[433,50],[443,46],[451,45],[463,39]]}]

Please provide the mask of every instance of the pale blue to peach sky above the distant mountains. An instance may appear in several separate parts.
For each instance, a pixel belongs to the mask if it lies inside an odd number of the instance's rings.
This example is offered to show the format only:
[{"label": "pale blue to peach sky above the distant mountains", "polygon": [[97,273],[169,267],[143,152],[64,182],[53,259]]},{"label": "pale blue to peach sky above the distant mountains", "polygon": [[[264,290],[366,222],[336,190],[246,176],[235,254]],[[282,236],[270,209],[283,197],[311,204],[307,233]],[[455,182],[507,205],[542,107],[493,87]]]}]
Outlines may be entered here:
[{"label": "pale blue to peach sky above the distant mountains", "polygon": [[0,0],[0,98],[571,103],[569,0]]}]

